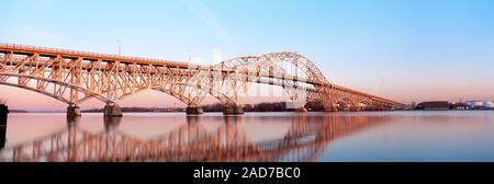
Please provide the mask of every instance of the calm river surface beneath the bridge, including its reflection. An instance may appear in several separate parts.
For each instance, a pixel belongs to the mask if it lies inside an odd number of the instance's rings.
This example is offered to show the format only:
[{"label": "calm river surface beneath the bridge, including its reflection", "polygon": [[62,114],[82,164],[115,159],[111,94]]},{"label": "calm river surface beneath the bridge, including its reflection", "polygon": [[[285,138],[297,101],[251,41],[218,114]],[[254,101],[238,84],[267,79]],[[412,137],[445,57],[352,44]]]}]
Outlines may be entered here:
[{"label": "calm river surface beneath the bridge, including its reflection", "polygon": [[0,161],[494,161],[494,111],[10,114],[0,136]]}]

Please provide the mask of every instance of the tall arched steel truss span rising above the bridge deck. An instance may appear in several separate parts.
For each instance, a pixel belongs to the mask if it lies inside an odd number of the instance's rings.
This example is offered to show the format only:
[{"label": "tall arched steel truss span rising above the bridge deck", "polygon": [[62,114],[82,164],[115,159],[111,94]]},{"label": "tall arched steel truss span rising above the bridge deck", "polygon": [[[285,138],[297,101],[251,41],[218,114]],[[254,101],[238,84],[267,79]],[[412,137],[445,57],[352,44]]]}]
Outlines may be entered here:
[{"label": "tall arched steel truss span rising above the bridge deck", "polygon": [[[281,81],[278,85],[281,85],[291,101],[300,104],[301,107],[310,100],[318,99],[318,95],[306,91],[305,88],[307,87],[301,84],[299,82],[300,79],[308,79],[312,82],[318,81],[329,84],[328,80],[311,60],[296,53],[271,53],[262,56],[237,57],[222,61],[214,67],[221,68],[222,70],[229,69],[235,71],[235,73],[246,73],[248,76],[247,81],[249,82],[257,81],[257,83],[261,83],[261,73],[268,77],[279,78]],[[252,72],[258,76],[252,76]],[[236,92],[233,96],[229,96],[235,103],[238,101],[238,91],[242,91],[242,88],[246,89],[246,87],[237,88],[234,89]],[[308,88],[316,91],[321,87],[313,84]],[[247,91],[244,91],[244,93],[247,93]]]}]

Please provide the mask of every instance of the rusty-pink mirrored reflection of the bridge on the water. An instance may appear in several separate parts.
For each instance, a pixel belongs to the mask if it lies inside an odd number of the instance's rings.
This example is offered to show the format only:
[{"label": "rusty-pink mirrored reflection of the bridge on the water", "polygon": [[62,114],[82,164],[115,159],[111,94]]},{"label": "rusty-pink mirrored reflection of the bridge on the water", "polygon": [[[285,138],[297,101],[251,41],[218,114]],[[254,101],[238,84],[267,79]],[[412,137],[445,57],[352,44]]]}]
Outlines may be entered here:
[{"label": "rusty-pink mirrored reflection of the bridge on the water", "polygon": [[[223,120],[207,130],[204,118]],[[187,124],[153,139],[139,139],[119,130],[122,117],[105,117],[104,130],[89,133],[78,127],[80,118],[67,127],[34,141],[5,148],[3,162],[195,162],[195,161],[316,161],[345,136],[389,122],[389,116],[285,116],[284,136],[256,140],[243,127],[249,116],[189,116]],[[269,118],[269,117],[266,117]],[[210,119],[211,120],[211,119]],[[269,119],[267,119],[267,123]],[[4,137],[4,136],[3,136]]]}]

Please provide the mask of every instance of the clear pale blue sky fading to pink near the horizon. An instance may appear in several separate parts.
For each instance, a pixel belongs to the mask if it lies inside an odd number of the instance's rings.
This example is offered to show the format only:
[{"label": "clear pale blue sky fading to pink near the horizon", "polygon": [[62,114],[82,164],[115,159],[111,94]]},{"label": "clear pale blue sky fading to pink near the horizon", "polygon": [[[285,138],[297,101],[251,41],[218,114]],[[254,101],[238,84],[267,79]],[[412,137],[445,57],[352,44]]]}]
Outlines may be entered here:
[{"label": "clear pale blue sky fading to pink near the horizon", "polygon": [[[192,62],[296,51],[330,82],[403,103],[494,101],[491,0],[0,0],[0,42]],[[16,108],[65,108],[0,87]],[[269,100],[265,97],[263,100]],[[29,103],[27,103],[29,102]],[[158,92],[122,106],[176,105]],[[47,105],[49,104],[49,105]],[[86,107],[100,106],[88,102]]]}]

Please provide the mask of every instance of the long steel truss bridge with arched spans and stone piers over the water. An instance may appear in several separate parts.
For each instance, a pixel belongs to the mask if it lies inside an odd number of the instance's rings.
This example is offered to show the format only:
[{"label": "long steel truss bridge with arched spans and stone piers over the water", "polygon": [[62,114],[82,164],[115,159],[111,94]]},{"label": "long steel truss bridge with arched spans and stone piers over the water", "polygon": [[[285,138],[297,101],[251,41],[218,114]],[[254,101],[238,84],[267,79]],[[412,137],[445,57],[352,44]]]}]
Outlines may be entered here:
[{"label": "long steel truss bridge with arched spans and stone piers over the water", "polygon": [[[9,80],[13,78],[14,80]],[[224,105],[224,114],[243,114],[240,100],[252,83],[280,87],[300,112],[307,102],[325,111],[394,110],[403,104],[330,83],[296,53],[238,57],[217,65],[122,57],[106,54],[0,44],[0,84],[31,90],[68,104],[69,116],[90,99],[104,102],[105,116],[121,116],[117,101],[156,90],[202,114],[206,96]]]}]

